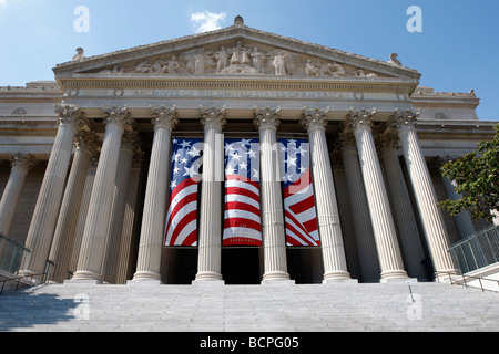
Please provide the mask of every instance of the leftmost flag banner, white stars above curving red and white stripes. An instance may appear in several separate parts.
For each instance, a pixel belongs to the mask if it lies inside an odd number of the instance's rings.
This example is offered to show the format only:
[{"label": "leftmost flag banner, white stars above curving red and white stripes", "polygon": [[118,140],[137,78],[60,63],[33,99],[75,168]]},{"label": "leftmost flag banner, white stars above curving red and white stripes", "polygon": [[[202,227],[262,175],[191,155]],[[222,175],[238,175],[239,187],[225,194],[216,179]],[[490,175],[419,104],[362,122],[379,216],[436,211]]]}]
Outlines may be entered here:
[{"label": "leftmost flag banner, white stars above curving red and white stripes", "polygon": [[197,186],[201,139],[173,139],[165,246],[197,246]]}]

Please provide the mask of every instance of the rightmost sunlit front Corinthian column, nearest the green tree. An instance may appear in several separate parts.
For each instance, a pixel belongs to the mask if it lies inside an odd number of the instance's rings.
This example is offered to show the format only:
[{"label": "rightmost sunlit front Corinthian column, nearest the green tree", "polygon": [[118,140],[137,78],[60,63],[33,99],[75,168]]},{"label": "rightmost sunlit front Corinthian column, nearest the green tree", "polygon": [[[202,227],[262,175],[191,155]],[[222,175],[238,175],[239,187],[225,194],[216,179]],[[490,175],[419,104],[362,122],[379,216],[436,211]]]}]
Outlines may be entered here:
[{"label": "rightmost sunlit front Corinthian column, nearest the green tree", "polygon": [[[391,124],[397,128],[400,138],[435,271],[457,273],[447,251],[449,249],[447,229],[441,210],[437,206],[435,187],[414,126],[417,116],[417,113],[409,110],[405,112],[396,110],[391,116]],[[445,277],[442,273],[436,275]]]}]

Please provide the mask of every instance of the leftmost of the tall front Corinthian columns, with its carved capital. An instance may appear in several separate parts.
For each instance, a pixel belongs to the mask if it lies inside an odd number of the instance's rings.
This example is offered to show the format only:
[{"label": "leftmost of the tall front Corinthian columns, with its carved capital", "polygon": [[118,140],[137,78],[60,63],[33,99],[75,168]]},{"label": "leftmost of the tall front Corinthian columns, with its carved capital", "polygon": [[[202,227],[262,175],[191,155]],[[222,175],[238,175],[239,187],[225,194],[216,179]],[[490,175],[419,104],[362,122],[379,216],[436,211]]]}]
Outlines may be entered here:
[{"label": "leftmost of the tall front Corinthian columns, with its carved capital", "polygon": [[53,142],[49,164],[31,218],[26,248],[31,253],[22,260],[20,274],[43,272],[58,220],[65,177],[77,131],[88,128],[83,112],[74,106],[58,106],[59,128]]}]

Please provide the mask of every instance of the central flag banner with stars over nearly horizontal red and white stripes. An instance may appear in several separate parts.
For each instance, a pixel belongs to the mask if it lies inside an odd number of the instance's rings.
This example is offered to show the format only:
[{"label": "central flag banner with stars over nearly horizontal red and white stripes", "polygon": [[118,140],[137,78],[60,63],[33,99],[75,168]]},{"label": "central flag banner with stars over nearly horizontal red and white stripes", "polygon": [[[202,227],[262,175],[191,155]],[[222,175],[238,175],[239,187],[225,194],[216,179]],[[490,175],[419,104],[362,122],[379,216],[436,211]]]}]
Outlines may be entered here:
[{"label": "central flag banner with stars over nearly horizontal red and white stripes", "polygon": [[223,246],[262,246],[257,139],[225,139]]}]

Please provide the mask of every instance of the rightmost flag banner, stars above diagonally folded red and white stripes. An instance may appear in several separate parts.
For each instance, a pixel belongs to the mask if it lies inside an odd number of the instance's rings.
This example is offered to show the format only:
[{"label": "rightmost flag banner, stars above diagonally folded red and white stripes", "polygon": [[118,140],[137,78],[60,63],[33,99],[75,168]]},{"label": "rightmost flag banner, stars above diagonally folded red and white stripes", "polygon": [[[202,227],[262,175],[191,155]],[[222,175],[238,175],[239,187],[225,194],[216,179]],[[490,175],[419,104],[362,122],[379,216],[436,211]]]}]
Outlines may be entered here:
[{"label": "rightmost flag banner, stars above diagonally folded red and white stripes", "polygon": [[306,139],[279,139],[287,246],[320,246]]}]

